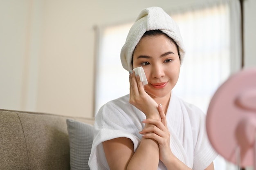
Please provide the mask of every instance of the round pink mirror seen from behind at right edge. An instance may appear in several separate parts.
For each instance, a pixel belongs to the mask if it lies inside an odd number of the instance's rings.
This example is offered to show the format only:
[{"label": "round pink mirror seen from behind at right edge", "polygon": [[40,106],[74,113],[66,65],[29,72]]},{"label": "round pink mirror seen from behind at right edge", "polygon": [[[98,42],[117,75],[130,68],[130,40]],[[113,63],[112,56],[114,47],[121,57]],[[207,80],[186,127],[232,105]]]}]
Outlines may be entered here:
[{"label": "round pink mirror seen from behind at right edge", "polygon": [[216,152],[256,170],[256,68],[232,75],[218,88],[207,110],[206,128]]}]

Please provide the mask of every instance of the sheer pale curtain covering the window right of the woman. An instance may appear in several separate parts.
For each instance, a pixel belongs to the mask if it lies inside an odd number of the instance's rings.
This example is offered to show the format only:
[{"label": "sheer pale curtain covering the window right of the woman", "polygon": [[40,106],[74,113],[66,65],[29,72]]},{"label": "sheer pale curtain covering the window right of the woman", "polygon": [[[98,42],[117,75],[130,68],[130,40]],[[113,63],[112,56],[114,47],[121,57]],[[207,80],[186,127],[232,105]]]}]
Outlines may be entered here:
[{"label": "sheer pale curtain covering the window right of the woman", "polygon": [[[173,91],[205,113],[212,95],[241,69],[241,14],[238,0],[205,2],[170,10],[180,26],[186,56]],[[218,156],[216,170],[237,166]]]}]

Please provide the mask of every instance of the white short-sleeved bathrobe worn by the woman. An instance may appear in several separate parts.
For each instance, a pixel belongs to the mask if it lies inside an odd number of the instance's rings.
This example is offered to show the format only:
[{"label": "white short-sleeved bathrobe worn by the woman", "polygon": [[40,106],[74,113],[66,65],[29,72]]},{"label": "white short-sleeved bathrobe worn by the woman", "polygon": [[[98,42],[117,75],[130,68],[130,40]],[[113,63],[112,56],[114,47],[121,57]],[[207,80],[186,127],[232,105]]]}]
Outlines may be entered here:
[{"label": "white short-sleeved bathrobe worn by the woman", "polygon": [[[205,114],[198,107],[184,102],[173,93],[166,113],[168,130],[171,133],[173,154],[193,170],[204,170],[216,158],[205,128]],[[89,159],[91,170],[109,170],[102,142],[118,137],[127,137],[137,150],[141,141],[146,116],[129,104],[129,95],[103,105],[94,123],[94,141]],[[166,170],[159,161],[158,170]]]}]

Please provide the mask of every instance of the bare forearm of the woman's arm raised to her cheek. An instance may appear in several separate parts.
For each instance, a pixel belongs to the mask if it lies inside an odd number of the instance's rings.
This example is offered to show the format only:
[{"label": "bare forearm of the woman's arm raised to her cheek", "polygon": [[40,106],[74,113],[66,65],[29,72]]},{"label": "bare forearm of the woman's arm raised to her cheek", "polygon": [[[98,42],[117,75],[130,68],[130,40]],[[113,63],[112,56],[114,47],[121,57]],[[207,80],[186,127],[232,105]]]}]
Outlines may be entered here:
[{"label": "bare forearm of the woman's arm raised to her cheek", "polygon": [[[159,117],[155,116],[155,119]],[[145,124],[146,127],[155,126]],[[127,170],[157,170],[159,163],[159,147],[157,141],[142,138],[141,142],[128,163]]]}]

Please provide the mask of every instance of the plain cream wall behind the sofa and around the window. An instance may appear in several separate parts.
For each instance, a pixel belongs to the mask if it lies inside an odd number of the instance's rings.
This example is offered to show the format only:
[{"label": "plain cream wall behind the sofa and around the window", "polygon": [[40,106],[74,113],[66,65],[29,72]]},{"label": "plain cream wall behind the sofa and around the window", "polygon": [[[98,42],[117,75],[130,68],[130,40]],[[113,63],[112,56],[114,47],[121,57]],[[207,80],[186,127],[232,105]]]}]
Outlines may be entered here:
[{"label": "plain cream wall behind the sofa and around the window", "polygon": [[[0,108],[92,117],[93,27],[134,21],[145,7],[194,2],[0,0]],[[256,66],[255,7],[245,0],[246,66]]]}]

